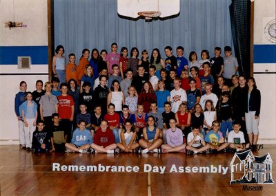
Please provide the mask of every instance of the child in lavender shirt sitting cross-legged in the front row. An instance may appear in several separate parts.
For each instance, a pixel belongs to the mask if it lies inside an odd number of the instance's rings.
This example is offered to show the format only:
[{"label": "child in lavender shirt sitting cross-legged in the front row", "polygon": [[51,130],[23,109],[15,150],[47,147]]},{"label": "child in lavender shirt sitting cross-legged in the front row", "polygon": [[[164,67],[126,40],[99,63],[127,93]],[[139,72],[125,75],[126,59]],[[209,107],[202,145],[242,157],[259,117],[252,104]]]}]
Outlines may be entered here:
[{"label": "child in lavender shirt sitting cross-legged in the front row", "polygon": [[175,118],[170,119],[170,129],[166,131],[167,144],[161,146],[162,153],[179,152],[185,153],[186,144],[183,144],[183,134],[181,129],[176,127]]}]

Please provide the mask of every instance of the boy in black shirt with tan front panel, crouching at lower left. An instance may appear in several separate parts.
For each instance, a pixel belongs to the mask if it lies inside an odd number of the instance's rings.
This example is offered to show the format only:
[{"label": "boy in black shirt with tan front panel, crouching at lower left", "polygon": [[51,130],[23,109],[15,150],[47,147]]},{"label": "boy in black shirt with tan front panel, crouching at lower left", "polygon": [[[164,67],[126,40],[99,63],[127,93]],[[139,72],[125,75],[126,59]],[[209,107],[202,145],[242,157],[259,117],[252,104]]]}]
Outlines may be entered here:
[{"label": "boy in black shirt with tan front panel, crouching at lower left", "polygon": [[66,144],[66,132],[64,131],[64,128],[60,124],[60,117],[59,113],[53,113],[52,114],[52,127],[50,127],[50,138],[51,138],[51,144],[52,149],[50,152],[59,151],[64,152],[65,151],[65,144]]}]

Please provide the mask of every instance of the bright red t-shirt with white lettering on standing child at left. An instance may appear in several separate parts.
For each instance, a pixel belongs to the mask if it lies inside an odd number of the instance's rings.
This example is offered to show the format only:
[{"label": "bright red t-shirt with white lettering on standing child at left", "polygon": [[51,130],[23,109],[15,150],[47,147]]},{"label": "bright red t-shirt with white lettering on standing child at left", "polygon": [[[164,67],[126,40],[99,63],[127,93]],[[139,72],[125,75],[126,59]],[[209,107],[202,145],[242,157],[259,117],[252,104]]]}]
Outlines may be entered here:
[{"label": "bright red t-shirt with white lettering on standing child at left", "polygon": [[72,96],[58,96],[57,100],[59,103],[57,104],[58,113],[61,119],[70,119],[72,115],[72,106],[75,105],[75,102]]}]

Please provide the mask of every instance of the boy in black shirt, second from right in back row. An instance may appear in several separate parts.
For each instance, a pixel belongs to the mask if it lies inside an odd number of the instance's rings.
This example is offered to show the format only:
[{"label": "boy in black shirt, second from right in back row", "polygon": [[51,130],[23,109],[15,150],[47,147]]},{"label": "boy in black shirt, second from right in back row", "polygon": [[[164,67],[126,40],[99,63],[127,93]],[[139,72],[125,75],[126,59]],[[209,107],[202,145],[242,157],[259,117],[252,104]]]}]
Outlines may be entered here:
[{"label": "boy in black shirt, second from right in back row", "polygon": [[211,74],[214,77],[214,80],[217,80],[218,76],[221,76],[222,72],[224,71],[224,58],[220,56],[221,48],[215,47],[215,56],[210,58],[211,63]]}]

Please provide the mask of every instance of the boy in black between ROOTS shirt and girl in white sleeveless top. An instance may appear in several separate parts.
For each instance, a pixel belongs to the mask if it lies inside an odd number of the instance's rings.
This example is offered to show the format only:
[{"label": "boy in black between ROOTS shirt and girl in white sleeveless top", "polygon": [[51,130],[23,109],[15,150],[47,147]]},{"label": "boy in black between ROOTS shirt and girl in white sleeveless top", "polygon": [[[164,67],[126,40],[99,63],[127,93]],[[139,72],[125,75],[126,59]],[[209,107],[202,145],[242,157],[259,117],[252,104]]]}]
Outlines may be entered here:
[{"label": "boy in black between ROOTS shirt and girl in white sleeveless top", "polygon": [[107,83],[107,77],[106,76],[99,76],[99,85],[96,87],[94,91],[94,100],[96,103],[101,105],[101,111],[103,114],[107,113],[107,102],[108,102],[108,87],[106,87]]}]

